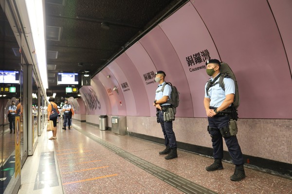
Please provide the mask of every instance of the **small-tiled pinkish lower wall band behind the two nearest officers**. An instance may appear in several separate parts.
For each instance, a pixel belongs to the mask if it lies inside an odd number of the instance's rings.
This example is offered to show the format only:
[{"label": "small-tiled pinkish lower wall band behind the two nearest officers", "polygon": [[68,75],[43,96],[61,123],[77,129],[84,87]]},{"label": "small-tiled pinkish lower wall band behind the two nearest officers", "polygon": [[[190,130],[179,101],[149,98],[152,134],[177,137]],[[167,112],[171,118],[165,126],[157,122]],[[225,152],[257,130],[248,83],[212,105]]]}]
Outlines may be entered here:
[{"label": "small-tiled pinkish lower wall band behind the two nearest officers", "polygon": [[[139,125],[137,125],[139,123]],[[278,162],[292,163],[292,120],[238,119],[237,139],[242,153]],[[206,118],[176,118],[177,141],[212,147]],[[128,131],[164,138],[156,117],[127,116]],[[224,144],[224,150],[227,150]]]}]

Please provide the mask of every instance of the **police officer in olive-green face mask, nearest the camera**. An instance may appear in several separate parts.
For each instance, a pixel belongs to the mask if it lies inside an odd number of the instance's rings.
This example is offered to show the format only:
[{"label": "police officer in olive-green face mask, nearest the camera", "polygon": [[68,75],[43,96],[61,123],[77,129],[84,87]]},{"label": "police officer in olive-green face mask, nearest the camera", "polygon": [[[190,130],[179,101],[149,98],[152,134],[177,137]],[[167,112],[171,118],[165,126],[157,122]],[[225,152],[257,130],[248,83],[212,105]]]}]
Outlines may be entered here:
[{"label": "police officer in olive-green face mask, nearest the camera", "polygon": [[[215,162],[206,167],[207,171],[214,171],[223,169],[223,141],[220,129],[229,130],[230,116],[222,113],[222,111],[231,108],[231,104],[234,101],[235,96],[235,83],[231,78],[224,78],[225,91],[216,84],[220,77],[220,62],[217,59],[210,59],[206,62],[207,74],[211,77],[212,87],[209,88],[208,94],[206,93],[205,85],[205,97],[204,107],[208,116],[208,132],[212,137],[213,157]],[[225,135],[224,135],[225,136]],[[236,135],[224,137],[226,146],[228,147],[229,154],[232,158],[232,162],[236,165],[234,174],[230,177],[233,181],[239,181],[245,178],[245,172],[243,168],[243,156],[240,146],[237,141]]]}]

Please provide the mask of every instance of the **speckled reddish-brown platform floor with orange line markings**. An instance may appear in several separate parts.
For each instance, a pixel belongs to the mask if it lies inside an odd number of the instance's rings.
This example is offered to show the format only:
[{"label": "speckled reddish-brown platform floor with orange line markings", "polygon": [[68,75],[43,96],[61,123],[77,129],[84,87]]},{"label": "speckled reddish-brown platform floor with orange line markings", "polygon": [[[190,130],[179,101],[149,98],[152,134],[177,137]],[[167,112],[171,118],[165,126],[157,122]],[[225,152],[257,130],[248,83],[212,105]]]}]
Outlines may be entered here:
[{"label": "speckled reddish-brown platform floor with orange line markings", "polygon": [[[245,168],[246,178],[234,182],[230,180],[234,172],[233,164],[224,162],[223,170],[207,172],[205,166],[211,164],[213,159],[182,150],[178,150],[177,159],[167,161],[158,154],[164,149],[163,145],[101,131],[77,121],[73,121],[71,130],[62,130],[58,126],[56,140],[47,140],[51,132],[44,132],[42,136],[45,138],[39,138],[48,148],[47,151],[55,151],[60,185],[33,191],[36,174],[27,170],[32,166],[26,163],[33,160],[28,159],[23,166],[21,180],[30,176],[34,178],[31,178],[31,183],[21,181],[19,194],[183,194],[181,190],[120,157],[79,130],[219,194],[292,194],[291,179]],[[45,146],[38,146],[40,150],[46,150]],[[34,156],[29,158],[37,158],[39,153],[36,150]]]}]

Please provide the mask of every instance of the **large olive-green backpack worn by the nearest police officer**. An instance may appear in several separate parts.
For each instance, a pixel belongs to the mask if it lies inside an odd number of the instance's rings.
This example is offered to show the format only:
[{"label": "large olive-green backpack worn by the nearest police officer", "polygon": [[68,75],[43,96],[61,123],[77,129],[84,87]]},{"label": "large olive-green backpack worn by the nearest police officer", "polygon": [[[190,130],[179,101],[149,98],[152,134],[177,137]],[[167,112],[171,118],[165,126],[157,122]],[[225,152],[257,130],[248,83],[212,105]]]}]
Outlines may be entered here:
[{"label": "large olive-green backpack worn by the nearest police officer", "polygon": [[[220,63],[220,77],[219,77],[219,86],[225,91],[225,85],[224,85],[224,82],[223,82],[223,79],[224,78],[231,78],[233,81],[234,81],[234,84],[235,84],[235,96],[234,96],[234,101],[232,103],[232,107],[233,109],[236,109],[238,108],[239,106],[239,92],[238,92],[238,86],[237,86],[237,81],[236,81],[236,77],[233,73],[233,71],[231,70],[230,66],[224,62],[221,62]],[[217,83],[218,83],[217,82]],[[206,87],[206,93],[208,95],[208,91],[209,91],[209,88],[216,85],[217,83],[214,83],[214,84],[211,84],[211,79],[208,81],[208,84],[207,84],[207,87]]]}]

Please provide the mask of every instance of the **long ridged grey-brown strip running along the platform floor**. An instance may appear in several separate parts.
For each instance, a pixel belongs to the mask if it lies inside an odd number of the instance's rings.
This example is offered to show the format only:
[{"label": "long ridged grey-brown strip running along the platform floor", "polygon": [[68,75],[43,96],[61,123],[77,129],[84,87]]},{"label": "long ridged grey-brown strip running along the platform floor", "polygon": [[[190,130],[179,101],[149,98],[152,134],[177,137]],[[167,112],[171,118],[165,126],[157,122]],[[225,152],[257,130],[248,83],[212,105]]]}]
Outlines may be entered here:
[{"label": "long ridged grey-brown strip running along the platform floor", "polygon": [[147,171],[148,173],[152,174],[153,176],[162,179],[164,182],[167,182],[171,186],[181,190],[186,194],[217,194],[209,189],[202,187],[194,182],[189,181],[188,179],[182,178],[176,174],[173,174],[159,166],[156,166],[150,162],[147,162],[129,152],[126,152],[119,147],[113,146],[110,143],[86,132],[81,130],[80,128],[74,126],[74,129],[78,130],[80,133],[86,135],[87,137],[91,138],[98,144],[108,148],[112,152],[116,153],[120,157],[126,159],[127,161],[135,164],[136,166],[142,168],[143,170]]}]

